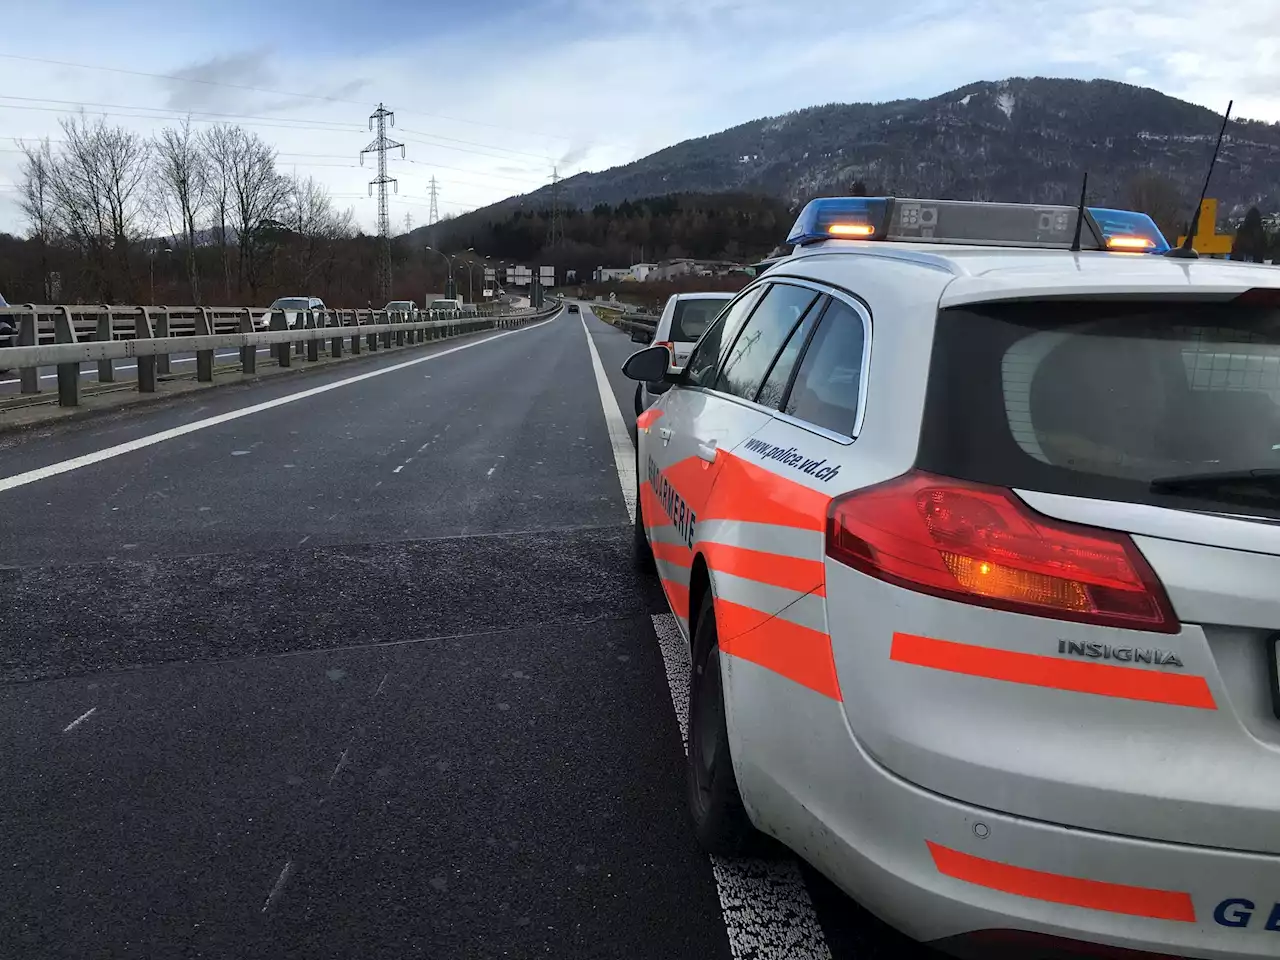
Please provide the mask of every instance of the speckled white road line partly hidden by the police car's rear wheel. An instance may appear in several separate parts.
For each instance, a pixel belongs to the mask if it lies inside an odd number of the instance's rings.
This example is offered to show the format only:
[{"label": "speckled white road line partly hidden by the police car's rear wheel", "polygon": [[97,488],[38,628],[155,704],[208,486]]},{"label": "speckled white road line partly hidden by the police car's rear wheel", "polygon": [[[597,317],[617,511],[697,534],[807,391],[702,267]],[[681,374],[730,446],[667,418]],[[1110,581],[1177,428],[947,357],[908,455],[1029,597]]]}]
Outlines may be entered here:
[{"label": "speckled white road line partly hidden by the police car's rear wheel", "polygon": [[[689,644],[669,613],[653,614],[653,631],[671,686],[680,739],[689,753]],[[795,860],[713,856],[724,929],[733,960],[831,960],[827,938]]]}]

